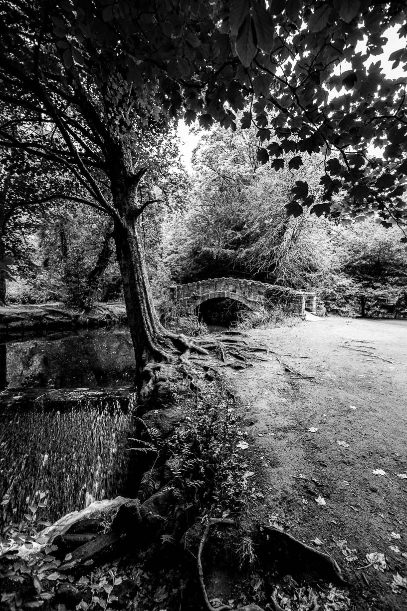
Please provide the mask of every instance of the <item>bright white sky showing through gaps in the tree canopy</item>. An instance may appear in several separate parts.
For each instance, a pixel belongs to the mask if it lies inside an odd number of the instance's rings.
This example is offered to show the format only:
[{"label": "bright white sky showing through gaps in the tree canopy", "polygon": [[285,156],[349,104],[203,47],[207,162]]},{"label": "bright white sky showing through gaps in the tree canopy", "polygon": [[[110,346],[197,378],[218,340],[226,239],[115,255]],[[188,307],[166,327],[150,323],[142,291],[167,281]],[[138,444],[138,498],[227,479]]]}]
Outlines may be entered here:
[{"label": "bright white sky showing through gaps in the tree canopy", "polygon": [[[395,70],[392,69],[393,62],[389,61],[389,56],[397,51],[398,49],[405,48],[407,45],[406,38],[398,38],[397,30],[400,26],[389,27],[389,29],[383,34],[384,37],[387,38],[387,43],[384,45],[383,54],[381,55],[372,55],[370,59],[368,59],[368,66],[373,62],[381,61],[382,71],[387,76],[387,78],[400,78],[400,76],[404,76],[405,72],[403,71],[403,67],[398,65]],[[359,51],[364,51],[366,49],[363,48],[364,45],[359,44],[356,47],[356,53]],[[347,62],[342,62],[340,68],[338,67],[338,71],[349,70],[350,65]],[[336,93],[339,95],[339,92]],[[181,141],[181,156],[184,161],[185,167],[190,169],[191,167],[191,158],[192,151],[200,141],[200,134],[192,133],[190,127],[185,125],[183,120],[178,122],[178,136]]]}]

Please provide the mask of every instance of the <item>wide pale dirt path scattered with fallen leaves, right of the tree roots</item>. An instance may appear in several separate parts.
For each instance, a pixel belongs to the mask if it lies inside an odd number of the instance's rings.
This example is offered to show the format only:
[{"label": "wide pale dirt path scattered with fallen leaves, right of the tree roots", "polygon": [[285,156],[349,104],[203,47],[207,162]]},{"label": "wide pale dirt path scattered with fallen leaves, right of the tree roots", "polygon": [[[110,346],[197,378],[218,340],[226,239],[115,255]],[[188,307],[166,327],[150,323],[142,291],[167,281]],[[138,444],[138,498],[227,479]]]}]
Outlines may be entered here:
[{"label": "wide pale dirt path scattered with fallen leaves, right of the tree roots", "polygon": [[[397,477],[407,473],[407,321],[325,318],[250,335],[275,352],[231,375],[259,518],[317,538],[344,569],[354,609],[407,610],[407,590],[391,587],[407,577],[407,479]],[[293,379],[284,364],[315,377]],[[384,572],[357,569],[372,552],[385,555]]]}]

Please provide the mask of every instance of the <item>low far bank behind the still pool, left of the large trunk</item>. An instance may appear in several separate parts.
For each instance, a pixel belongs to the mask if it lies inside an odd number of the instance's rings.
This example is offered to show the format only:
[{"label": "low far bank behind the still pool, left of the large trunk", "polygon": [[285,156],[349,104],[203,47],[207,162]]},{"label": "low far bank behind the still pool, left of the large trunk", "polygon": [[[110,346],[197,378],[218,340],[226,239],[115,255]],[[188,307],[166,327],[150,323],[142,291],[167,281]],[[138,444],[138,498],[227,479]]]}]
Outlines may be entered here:
[{"label": "low far bank behind the still pool, left of the large trunk", "polygon": [[18,337],[26,332],[68,331],[79,327],[104,327],[126,323],[124,303],[98,303],[89,312],[60,303],[0,307],[0,336]]}]

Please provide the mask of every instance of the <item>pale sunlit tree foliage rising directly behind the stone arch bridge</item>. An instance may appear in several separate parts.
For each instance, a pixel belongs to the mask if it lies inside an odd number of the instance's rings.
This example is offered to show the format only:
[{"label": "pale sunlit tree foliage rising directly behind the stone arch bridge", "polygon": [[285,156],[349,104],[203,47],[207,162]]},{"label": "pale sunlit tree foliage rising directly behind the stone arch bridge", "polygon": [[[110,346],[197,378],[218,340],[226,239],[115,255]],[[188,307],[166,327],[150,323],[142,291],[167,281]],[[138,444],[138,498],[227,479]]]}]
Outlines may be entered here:
[{"label": "pale sunlit tree foliage rising directly behind the stone arch bridge", "polygon": [[298,180],[308,178],[320,197],[322,158],[277,174],[256,161],[260,146],[253,128],[217,128],[202,137],[189,214],[175,222],[172,244],[168,239],[166,261],[177,280],[238,275],[303,288],[304,276],[319,268],[322,221],[309,213],[290,218],[286,205]]}]

